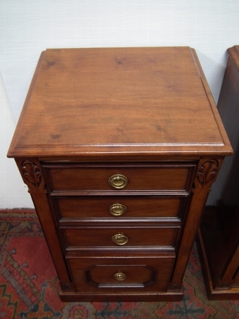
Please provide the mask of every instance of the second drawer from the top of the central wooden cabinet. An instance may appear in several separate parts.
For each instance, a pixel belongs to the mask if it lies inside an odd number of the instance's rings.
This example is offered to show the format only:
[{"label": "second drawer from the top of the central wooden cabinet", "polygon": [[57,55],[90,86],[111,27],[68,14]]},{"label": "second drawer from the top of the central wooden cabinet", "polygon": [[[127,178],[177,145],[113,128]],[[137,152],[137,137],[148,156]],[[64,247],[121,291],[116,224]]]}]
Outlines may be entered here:
[{"label": "second drawer from the top of the central wooden cabinet", "polygon": [[183,197],[81,196],[54,198],[58,218],[176,218]]}]

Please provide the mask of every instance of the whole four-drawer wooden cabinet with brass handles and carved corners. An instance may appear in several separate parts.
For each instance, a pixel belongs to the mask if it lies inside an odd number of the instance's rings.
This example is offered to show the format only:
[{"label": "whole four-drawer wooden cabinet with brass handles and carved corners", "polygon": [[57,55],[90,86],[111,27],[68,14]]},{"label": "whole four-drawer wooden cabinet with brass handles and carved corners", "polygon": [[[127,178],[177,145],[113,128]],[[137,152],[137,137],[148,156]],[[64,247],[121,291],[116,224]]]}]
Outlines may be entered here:
[{"label": "whole four-drawer wooden cabinet with brass handles and carved corners", "polygon": [[173,301],[232,154],[194,49],[47,49],[8,157],[63,301]]}]

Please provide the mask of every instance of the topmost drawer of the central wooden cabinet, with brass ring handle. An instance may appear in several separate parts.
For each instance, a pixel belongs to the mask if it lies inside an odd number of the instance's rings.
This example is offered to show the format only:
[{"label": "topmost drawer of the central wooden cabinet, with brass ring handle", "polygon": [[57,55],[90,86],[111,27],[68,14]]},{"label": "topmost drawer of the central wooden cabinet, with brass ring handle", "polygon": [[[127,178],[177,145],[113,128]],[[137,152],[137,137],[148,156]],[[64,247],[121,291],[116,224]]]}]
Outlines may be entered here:
[{"label": "topmost drawer of the central wooden cabinet, with brass ring handle", "polygon": [[188,190],[195,163],[44,164],[52,191]]}]

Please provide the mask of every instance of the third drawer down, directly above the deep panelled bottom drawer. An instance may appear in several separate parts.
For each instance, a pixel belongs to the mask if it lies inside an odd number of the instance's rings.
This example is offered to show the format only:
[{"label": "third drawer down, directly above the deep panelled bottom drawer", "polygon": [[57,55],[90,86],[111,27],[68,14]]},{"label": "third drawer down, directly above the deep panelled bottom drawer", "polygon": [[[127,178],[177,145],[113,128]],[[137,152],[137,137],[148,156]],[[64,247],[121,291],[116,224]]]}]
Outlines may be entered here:
[{"label": "third drawer down, directly above the deep panelled bottom drawer", "polygon": [[67,248],[130,249],[148,247],[160,249],[175,246],[180,227],[154,228],[60,228]]}]

